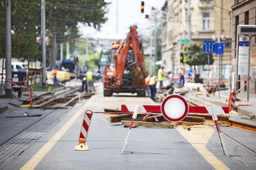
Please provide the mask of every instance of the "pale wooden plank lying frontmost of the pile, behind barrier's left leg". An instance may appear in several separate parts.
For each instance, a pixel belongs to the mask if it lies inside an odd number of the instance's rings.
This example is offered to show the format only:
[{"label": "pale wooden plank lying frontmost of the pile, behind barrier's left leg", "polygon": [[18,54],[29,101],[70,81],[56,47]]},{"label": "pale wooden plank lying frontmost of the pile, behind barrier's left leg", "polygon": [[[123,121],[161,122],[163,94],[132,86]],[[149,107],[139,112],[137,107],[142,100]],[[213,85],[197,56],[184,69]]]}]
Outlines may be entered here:
[{"label": "pale wooden plank lying frontmost of the pile, behind barrier's left leg", "polygon": [[[121,125],[130,126],[130,124],[131,124],[131,121],[123,121],[123,120],[121,121]],[[172,124],[155,123],[155,122],[142,122],[142,121],[134,121],[133,126],[174,129],[174,125],[172,125]]]}]

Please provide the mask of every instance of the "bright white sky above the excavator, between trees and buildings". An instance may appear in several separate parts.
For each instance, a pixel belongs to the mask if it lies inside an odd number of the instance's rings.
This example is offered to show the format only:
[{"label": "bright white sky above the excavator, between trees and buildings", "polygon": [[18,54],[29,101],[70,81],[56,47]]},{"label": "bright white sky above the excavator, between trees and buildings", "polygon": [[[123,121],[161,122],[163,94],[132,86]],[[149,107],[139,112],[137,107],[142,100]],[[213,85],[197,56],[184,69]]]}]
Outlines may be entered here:
[{"label": "bright white sky above the excavator, between trees and buildings", "polygon": [[[166,0],[144,0],[144,14],[141,13],[141,1],[138,0],[106,0],[106,2],[112,2],[112,4],[109,5],[109,13],[106,15],[108,16],[108,21],[102,24],[101,33],[126,35],[130,31],[129,27],[137,24],[138,33],[139,31],[143,31],[143,34],[149,35],[150,30],[148,30],[148,27],[150,27],[150,20],[146,19],[145,15],[151,15],[151,6],[160,10]],[[82,27],[83,35],[97,32],[99,31],[96,31],[94,28]]]}]

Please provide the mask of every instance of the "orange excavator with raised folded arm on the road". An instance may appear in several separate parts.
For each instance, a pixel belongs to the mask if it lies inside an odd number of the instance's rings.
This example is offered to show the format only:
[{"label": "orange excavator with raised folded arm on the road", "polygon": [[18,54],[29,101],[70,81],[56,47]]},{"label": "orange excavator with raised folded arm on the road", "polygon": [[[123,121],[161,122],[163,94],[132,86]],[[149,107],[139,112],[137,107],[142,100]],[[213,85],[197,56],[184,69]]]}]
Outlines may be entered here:
[{"label": "orange excavator with raised folded arm on the road", "polygon": [[112,45],[112,49],[105,53],[108,57],[104,59],[101,53],[99,70],[104,67],[104,96],[112,96],[113,92],[137,93],[141,97],[146,95],[147,71],[144,66],[142,42],[138,39],[136,29],[136,26],[131,26],[126,40],[122,44]]}]

